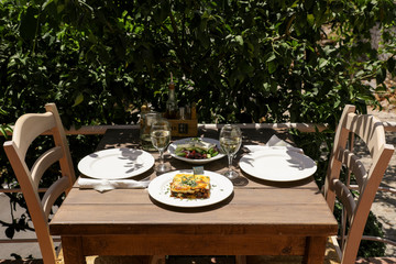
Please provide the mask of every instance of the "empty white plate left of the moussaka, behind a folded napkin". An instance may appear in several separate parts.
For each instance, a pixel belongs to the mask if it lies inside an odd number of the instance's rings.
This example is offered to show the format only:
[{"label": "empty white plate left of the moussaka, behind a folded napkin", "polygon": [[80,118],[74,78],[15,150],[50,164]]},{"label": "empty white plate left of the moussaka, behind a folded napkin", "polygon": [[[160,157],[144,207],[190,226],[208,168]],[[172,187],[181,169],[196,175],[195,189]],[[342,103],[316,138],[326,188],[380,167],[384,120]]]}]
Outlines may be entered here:
[{"label": "empty white plate left of the moussaka, behind a folded napkin", "polygon": [[109,148],[85,156],[78,163],[81,174],[99,179],[138,176],[154,165],[152,154],[135,148]]}]

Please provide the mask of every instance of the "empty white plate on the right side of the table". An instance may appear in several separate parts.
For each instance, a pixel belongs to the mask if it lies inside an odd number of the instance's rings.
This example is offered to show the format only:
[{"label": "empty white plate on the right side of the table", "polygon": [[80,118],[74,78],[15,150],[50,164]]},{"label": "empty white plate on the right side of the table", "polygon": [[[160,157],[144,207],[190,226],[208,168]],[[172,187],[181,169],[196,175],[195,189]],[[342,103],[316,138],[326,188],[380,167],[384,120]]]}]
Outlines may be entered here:
[{"label": "empty white plate on the right side of the table", "polygon": [[311,176],[316,163],[294,151],[265,150],[244,155],[239,163],[246,174],[273,182],[293,182]]}]

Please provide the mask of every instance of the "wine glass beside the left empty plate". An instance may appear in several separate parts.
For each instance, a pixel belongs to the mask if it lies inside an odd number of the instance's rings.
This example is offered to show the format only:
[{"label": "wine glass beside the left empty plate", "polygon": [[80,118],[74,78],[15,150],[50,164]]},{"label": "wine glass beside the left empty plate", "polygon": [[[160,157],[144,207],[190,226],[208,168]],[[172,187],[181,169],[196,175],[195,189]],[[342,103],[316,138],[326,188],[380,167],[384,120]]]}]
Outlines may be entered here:
[{"label": "wine glass beside the left empty plate", "polygon": [[157,119],[153,122],[150,130],[150,138],[153,146],[160,152],[160,164],[156,167],[156,172],[166,173],[170,170],[170,167],[164,164],[164,151],[170,142],[170,124],[165,119]]}]

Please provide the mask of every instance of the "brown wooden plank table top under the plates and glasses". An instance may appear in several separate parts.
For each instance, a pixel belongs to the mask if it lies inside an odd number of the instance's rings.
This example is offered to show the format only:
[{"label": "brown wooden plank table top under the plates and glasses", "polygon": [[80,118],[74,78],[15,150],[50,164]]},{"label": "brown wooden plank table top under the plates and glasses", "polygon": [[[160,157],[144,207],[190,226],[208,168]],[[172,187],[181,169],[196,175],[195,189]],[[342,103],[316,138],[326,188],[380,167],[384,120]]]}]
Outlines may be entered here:
[{"label": "brown wooden plank table top under the plates and glasses", "polygon": [[[262,144],[273,131],[243,130],[243,144]],[[218,131],[201,130],[200,134],[218,139]],[[287,133],[279,138],[288,140]],[[109,130],[98,150],[138,147],[139,130]],[[157,158],[157,153],[152,153]],[[98,193],[79,189],[77,184],[52,219],[50,230],[55,235],[106,234],[268,234],[319,235],[337,233],[337,221],[312,177],[295,183],[271,183],[242,173],[238,161],[233,165],[241,177],[233,182],[234,191],[226,200],[202,208],[176,208],[152,199],[146,189],[116,189]],[[157,162],[157,160],[156,160]],[[175,169],[191,168],[191,164],[166,156]],[[204,165],[206,170],[227,170],[227,157]],[[157,177],[150,169],[139,178]]]}]

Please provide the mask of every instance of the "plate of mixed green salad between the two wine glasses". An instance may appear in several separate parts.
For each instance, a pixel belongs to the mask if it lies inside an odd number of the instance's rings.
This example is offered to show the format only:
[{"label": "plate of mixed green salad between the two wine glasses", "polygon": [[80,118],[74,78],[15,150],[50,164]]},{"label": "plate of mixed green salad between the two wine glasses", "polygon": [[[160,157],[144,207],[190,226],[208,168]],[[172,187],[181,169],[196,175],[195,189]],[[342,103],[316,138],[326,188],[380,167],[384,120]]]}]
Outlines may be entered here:
[{"label": "plate of mixed green salad between the two wine glasses", "polygon": [[206,164],[220,160],[220,142],[209,138],[187,138],[173,142],[168,152],[174,158],[191,163]]}]

